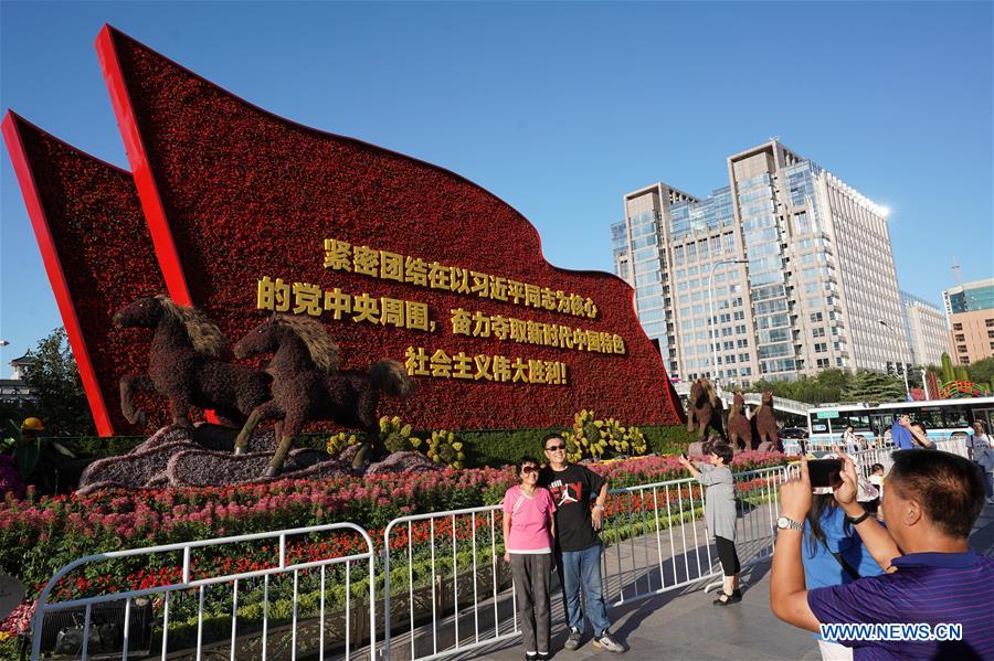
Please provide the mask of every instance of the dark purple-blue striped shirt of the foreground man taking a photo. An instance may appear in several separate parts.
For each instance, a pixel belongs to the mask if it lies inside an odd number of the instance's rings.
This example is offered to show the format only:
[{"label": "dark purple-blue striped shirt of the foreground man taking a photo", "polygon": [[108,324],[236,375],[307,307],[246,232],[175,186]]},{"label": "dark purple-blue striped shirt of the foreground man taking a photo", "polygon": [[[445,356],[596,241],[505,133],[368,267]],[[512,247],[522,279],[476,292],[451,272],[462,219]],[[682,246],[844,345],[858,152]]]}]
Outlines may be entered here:
[{"label": "dark purple-blue striped shirt of the foreground man taking a photo", "polygon": [[897,572],[807,593],[819,623],[961,623],[960,641],[842,640],[863,659],[994,659],[994,558],[965,553],[911,553]]}]

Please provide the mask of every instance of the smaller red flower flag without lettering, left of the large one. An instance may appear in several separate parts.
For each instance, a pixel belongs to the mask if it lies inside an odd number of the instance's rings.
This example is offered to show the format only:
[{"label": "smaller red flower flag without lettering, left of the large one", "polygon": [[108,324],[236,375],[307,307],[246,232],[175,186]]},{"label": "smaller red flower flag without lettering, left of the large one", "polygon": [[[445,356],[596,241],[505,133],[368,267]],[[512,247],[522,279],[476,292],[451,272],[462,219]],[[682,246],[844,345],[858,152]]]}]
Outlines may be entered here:
[{"label": "smaller red flower flag without lettering, left of the large one", "polygon": [[[13,113],[3,139],[97,431],[121,433],[118,382],[145,371],[151,338],[114,328],[112,317],[121,302],[165,290],[131,175]],[[151,419],[165,420],[165,412]]]}]

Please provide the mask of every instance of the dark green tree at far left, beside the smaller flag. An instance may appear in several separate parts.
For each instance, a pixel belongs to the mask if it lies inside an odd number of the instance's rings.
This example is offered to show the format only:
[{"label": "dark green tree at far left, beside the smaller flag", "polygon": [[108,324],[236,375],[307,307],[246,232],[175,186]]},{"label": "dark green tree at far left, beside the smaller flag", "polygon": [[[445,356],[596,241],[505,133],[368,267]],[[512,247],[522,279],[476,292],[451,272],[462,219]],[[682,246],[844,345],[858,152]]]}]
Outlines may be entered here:
[{"label": "dark green tree at far left, beside the smaller flag", "polygon": [[29,354],[34,359],[24,371],[24,381],[36,401],[32,415],[45,424],[52,436],[92,436],[96,429],[76,369],[76,359],[68,348],[64,328],[57,328],[38,343]]}]

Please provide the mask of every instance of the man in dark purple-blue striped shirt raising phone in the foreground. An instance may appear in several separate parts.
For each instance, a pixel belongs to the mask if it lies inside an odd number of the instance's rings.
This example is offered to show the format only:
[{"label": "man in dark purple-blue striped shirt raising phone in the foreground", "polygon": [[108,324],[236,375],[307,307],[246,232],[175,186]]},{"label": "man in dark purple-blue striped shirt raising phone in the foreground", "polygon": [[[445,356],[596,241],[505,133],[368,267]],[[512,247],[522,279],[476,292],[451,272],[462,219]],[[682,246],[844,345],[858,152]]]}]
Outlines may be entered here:
[{"label": "man in dark purple-blue striped shirt raising phone in the foreground", "polygon": [[[780,488],[783,516],[770,579],[774,615],[853,648],[854,659],[994,659],[994,558],[969,544],[984,501],[974,466],[950,452],[895,452],[880,505],[884,527],[856,501],[856,467],[843,460],[835,499],[885,574],[806,589],[801,522],[812,483],[802,459],[800,478]],[[950,635],[951,626],[958,635]]]}]

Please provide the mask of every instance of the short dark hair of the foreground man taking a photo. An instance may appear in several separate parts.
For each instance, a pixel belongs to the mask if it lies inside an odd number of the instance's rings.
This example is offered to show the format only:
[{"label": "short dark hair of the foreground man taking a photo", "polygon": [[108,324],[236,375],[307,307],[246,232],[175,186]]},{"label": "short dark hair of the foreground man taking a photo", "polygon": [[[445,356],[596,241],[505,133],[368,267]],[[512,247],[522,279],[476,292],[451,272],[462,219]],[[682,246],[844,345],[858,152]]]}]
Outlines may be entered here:
[{"label": "short dark hair of the foreground man taking a photo", "polygon": [[965,540],[984,508],[984,478],[980,468],[952,452],[899,450],[887,488],[914,499],[945,534]]}]

